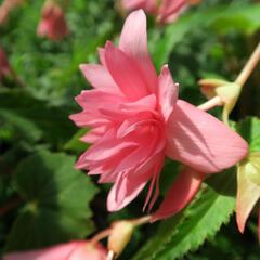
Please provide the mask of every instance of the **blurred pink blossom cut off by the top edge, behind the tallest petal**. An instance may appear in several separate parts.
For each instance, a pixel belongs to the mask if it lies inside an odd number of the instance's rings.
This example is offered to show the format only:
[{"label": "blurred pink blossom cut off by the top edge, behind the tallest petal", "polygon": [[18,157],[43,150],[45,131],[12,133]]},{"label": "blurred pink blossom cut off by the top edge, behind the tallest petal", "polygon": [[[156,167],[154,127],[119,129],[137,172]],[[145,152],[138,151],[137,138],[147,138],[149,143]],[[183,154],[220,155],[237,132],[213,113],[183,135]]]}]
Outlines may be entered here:
[{"label": "blurred pink blossom cut off by the top edge, behind the tallest petal", "polygon": [[159,23],[172,23],[191,4],[200,0],[121,0],[121,5],[128,11],[143,9],[145,12],[157,16]]}]

